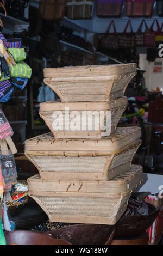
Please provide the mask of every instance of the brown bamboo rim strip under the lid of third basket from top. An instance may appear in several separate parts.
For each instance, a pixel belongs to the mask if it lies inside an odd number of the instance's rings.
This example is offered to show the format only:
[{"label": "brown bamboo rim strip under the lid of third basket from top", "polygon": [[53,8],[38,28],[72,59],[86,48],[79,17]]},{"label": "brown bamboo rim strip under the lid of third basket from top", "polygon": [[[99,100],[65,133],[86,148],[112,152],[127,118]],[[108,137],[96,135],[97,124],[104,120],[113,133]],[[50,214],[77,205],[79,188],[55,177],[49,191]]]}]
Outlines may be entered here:
[{"label": "brown bamboo rim strip under the lid of third basket from top", "polygon": [[90,156],[90,157],[98,157],[98,156],[116,156],[116,155],[120,155],[124,152],[129,151],[130,149],[134,149],[136,147],[140,147],[141,145],[141,139],[137,139],[135,142],[130,143],[129,145],[127,145],[124,148],[121,149],[117,149],[114,151],[97,151],[97,150],[93,150],[92,151],[85,151],[82,150],[80,151],[39,151],[39,150],[25,150],[25,155],[28,157],[29,155],[34,155],[34,156],[74,156],[74,157],[80,157],[80,156]]}]

